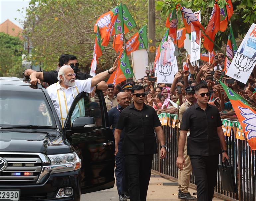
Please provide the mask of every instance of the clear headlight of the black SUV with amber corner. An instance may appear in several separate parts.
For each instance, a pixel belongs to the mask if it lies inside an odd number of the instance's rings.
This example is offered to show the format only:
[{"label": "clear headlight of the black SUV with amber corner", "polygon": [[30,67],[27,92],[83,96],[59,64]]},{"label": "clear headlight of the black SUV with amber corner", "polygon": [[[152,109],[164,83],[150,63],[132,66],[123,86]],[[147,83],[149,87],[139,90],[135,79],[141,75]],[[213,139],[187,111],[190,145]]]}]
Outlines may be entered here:
[{"label": "clear headlight of the black SUV with amber corner", "polygon": [[73,152],[70,154],[48,155],[51,166],[44,167],[51,173],[73,171],[81,168],[81,159]]}]

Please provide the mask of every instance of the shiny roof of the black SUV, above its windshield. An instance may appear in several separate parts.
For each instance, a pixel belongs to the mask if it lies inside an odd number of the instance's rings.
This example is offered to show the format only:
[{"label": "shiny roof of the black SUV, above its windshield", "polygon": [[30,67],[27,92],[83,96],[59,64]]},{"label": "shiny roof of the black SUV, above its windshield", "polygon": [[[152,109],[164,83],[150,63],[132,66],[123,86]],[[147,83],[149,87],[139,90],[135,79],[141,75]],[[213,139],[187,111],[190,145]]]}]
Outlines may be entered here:
[{"label": "shiny roof of the black SUV, above its windshield", "polygon": [[28,80],[17,77],[0,77],[0,89],[8,91],[41,92],[42,85],[33,86]]}]

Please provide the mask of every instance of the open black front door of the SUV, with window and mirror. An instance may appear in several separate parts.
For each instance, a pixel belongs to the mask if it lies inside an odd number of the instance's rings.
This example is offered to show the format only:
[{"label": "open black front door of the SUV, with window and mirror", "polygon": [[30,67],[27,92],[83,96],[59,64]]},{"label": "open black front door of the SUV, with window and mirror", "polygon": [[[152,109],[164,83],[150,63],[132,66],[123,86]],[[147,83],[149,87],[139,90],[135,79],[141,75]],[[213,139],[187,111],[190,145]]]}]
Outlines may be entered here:
[{"label": "open black front door of the SUV, with window and mirror", "polygon": [[115,145],[103,93],[78,94],[64,123],[67,139],[82,161],[81,193],[113,188]]}]

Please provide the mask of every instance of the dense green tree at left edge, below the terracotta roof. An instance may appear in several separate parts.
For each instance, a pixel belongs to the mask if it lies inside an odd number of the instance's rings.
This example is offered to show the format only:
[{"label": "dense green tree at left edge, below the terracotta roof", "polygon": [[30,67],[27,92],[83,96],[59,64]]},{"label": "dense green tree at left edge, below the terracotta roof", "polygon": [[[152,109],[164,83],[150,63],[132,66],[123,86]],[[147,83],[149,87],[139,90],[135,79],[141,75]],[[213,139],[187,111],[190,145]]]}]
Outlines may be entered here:
[{"label": "dense green tree at left edge, below the terracotta roof", "polygon": [[0,76],[22,77],[23,42],[19,37],[0,32],[0,47]]}]

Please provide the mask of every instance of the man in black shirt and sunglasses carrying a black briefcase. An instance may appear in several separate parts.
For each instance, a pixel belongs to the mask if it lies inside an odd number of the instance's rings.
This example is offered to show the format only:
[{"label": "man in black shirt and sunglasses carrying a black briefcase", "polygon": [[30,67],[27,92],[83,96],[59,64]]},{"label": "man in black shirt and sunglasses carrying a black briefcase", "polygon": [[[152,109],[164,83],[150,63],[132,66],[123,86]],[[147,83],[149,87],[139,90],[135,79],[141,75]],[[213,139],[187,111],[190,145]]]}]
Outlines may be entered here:
[{"label": "man in black shirt and sunglasses carrying a black briefcase", "polygon": [[[197,103],[189,107],[182,116],[177,166],[182,170],[185,160],[184,145],[188,130],[187,154],[190,156],[196,180],[197,201],[211,201],[216,185],[219,154],[222,161],[228,159],[224,133],[217,107],[209,105],[210,93],[207,85],[195,86]],[[222,150],[222,151],[221,151]]]}]

